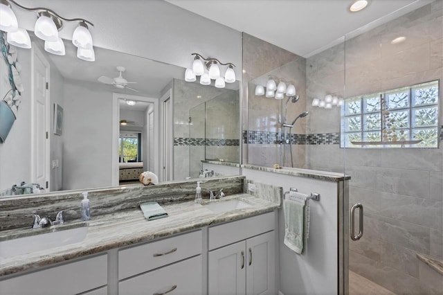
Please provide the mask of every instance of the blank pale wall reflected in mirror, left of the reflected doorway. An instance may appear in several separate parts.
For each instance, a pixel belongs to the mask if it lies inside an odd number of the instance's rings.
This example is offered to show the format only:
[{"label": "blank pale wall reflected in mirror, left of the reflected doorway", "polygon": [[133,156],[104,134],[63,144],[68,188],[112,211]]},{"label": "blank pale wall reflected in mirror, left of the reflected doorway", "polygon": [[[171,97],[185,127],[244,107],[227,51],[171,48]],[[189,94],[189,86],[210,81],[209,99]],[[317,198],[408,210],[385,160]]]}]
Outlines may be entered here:
[{"label": "blank pale wall reflected in mirror, left of the reflected doorway", "polygon": [[112,99],[98,83],[65,81],[64,190],[111,186]]}]

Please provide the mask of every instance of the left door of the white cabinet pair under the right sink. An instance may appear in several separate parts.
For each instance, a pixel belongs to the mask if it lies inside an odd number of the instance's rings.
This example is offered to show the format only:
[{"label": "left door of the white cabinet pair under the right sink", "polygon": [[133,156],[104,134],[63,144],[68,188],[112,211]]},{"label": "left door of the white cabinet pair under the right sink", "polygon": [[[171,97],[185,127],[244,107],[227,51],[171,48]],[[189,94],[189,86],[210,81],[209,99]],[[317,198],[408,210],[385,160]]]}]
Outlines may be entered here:
[{"label": "left door of the white cabinet pair under the right sink", "polygon": [[209,252],[208,293],[246,293],[246,242],[237,242]]}]

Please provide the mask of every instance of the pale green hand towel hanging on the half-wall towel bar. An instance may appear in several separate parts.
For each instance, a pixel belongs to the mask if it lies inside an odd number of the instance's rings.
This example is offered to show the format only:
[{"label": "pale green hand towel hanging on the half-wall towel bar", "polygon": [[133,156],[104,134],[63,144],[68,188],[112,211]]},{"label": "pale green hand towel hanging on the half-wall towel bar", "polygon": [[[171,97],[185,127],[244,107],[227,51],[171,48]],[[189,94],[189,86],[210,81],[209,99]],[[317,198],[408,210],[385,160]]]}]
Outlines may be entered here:
[{"label": "pale green hand towel hanging on the half-wall towel bar", "polygon": [[283,200],[284,244],[298,254],[307,251],[309,238],[308,196],[291,192]]}]

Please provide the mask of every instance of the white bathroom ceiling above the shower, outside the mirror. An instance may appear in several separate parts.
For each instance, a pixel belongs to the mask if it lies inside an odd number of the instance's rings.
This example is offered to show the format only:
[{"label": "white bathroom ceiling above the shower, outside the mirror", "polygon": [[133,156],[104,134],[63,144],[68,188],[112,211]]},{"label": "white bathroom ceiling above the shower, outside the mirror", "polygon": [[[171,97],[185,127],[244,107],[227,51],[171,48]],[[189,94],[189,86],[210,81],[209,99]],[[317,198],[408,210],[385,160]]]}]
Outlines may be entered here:
[{"label": "white bathroom ceiling above the shower, outside the mirror", "polygon": [[303,57],[342,42],[345,34],[358,35],[431,2],[369,0],[364,10],[350,12],[354,0],[166,1]]}]

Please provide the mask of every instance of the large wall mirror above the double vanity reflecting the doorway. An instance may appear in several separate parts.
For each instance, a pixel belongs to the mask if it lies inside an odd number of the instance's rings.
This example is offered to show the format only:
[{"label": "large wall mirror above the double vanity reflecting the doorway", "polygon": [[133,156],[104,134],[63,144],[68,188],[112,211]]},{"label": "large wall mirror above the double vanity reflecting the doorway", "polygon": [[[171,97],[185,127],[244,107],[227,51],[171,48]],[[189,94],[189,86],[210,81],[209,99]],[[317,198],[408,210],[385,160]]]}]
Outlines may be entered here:
[{"label": "large wall mirror above the double vanity reflecting the doorway", "polygon": [[[36,182],[45,192],[53,192],[119,183],[140,185],[138,173],[147,170],[161,181],[199,177],[205,158],[191,159],[193,141],[188,139],[183,145],[177,138],[229,139],[228,144],[212,143],[210,158],[239,162],[239,82],[226,89],[185,82],[181,66],[98,47],[96,61],[84,62],[75,57],[71,42],[64,42],[66,55],[58,56],[46,53],[42,41],[31,38],[31,50],[17,48],[24,91],[17,119],[0,144],[0,196],[35,190],[19,190],[21,181]],[[128,84],[134,90],[98,81],[101,76],[118,77],[119,70],[127,81],[136,82]],[[106,82],[107,78],[100,80]],[[48,91],[46,84],[39,84],[46,81]],[[2,84],[0,91],[3,97],[8,89]],[[39,91],[41,101],[35,100]],[[213,114],[207,111],[206,118],[188,120],[192,109],[202,103]],[[36,107],[48,109],[48,113],[37,118],[33,114]],[[227,120],[230,124],[221,124]],[[190,134],[191,124],[215,130],[217,122],[219,134]],[[37,129],[48,130],[47,141],[36,138]],[[40,133],[46,136],[46,131]],[[205,139],[205,148],[204,143]],[[41,146],[44,150],[39,150]],[[48,188],[39,181],[45,179],[45,173]],[[15,192],[13,185],[17,185]]]}]

